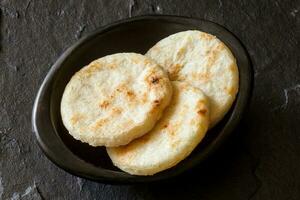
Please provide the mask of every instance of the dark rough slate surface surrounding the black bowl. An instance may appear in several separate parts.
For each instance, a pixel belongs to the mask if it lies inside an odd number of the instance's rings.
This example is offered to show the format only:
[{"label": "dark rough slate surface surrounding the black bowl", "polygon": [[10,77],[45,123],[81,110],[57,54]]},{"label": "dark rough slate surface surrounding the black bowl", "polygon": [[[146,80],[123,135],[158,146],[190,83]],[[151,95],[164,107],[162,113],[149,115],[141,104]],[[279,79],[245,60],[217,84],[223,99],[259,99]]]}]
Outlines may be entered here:
[{"label": "dark rough slate surface surrounding the black bowl", "polygon": [[[67,3],[68,2],[68,3]],[[1,0],[0,199],[300,199],[300,2]],[[35,94],[78,38],[142,14],[212,20],[249,51],[255,88],[237,136],[168,183],[116,186],[52,164],[31,131]]]}]

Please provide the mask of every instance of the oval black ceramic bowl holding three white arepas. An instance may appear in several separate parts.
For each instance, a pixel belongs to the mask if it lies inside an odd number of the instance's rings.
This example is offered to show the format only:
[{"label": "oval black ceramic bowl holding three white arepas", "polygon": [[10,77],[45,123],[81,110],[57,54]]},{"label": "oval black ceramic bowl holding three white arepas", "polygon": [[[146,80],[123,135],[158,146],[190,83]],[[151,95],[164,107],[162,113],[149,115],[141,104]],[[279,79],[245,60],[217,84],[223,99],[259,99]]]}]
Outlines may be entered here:
[{"label": "oval black ceramic bowl holding three white arepas", "polygon": [[[232,51],[239,67],[239,93],[225,118],[192,154],[177,166],[153,176],[133,176],[114,167],[103,147],[91,147],[73,139],[62,124],[60,101],[72,75],[92,60],[117,52],[144,54],[159,40],[185,30],[201,30],[221,39]],[[33,129],[47,157],[66,171],[108,183],[149,182],[173,177],[199,165],[214,152],[239,123],[251,92],[252,70],[238,39],[215,23],[175,16],[141,16],[100,28],[67,49],[52,66],[35,100]]]}]

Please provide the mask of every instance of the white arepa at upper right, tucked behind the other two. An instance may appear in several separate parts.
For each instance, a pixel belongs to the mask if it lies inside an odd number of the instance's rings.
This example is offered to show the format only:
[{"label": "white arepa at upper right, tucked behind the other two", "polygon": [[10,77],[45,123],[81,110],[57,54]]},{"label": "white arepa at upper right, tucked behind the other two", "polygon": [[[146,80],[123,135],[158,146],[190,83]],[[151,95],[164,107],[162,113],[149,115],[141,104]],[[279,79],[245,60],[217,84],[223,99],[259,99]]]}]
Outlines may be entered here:
[{"label": "white arepa at upper right, tucked behind the other two", "polygon": [[184,31],[162,39],[146,56],[154,59],[171,80],[187,81],[210,100],[210,127],[230,109],[239,86],[236,60],[218,38],[201,31]]}]

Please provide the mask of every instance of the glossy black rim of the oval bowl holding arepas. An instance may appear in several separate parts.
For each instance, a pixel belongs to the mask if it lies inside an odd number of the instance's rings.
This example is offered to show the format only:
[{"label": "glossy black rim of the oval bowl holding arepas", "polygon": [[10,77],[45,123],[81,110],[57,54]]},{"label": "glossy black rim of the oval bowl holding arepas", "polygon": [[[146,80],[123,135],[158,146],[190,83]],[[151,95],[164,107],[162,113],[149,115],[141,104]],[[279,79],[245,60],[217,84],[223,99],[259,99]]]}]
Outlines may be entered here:
[{"label": "glossy black rim of the oval bowl holding arepas", "polygon": [[[53,145],[49,146],[47,144],[47,140],[43,138],[42,134],[42,127],[40,123],[40,119],[38,115],[40,115],[40,112],[46,112],[47,108],[40,108],[41,101],[45,98],[45,90],[52,85],[51,80],[54,78],[56,72],[58,69],[63,65],[64,61],[72,55],[74,51],[79,49],[81,45],[88,42],[89,40],[92,40],[97,35],[101,35],[107,31],[110,31],[114,29],[115,27],[118,27],[119,25],[124,25],[125,23],[131,23],[135,21],[141,21],[141,20],[163,20],[170,23],[183,23],[187,24],[188,21],[192,21],[195,24],[206,24],[209,26],[214,26],[215,28],[219,29],[220,32],[223,34],[226,34],[228,37],[231,37],[230,39],[235,42],[235,45],[238,45],[238,48],[242,51],[241,53],[245,56],[245,65],[243,66],[245,68],[245,71],[247,72],[244,74],[243,78],[243,95],[238,95],[236,97],[236,101],[233,104],[234,109],[232,110],[232,114],[229,117],[228,121],[222,128],[221,132],[219,133],[219,137],[217,137],[215,140],[212,141],[213,144],[210,144],[203,153],[201,158],[198,158],[196,160],[193,160],[193,162],[186,163],[185,167],[182,167],[181,169],[177,169],[176,171],[171,171],[171,173],[163,173],[159,174],[158,176],[134,176],[129,174],[122,175],[118,172],[114,173],[112,170],[106,170],[102,169],[103,173],[97,173],[97,176],[95,176],[93,173],[96,172],[96,169],[93,169],[91,172],[84,172],[83,170],[78,170],[74,168],[74,166],[71,166],[70,162],[65,162],[61,159],[58,159],[55,153],[52,151],[51,148],[53,148]],[[191,23],[192,24],[192,23]],[[240,69],[240,67],[239,67]],[[241,74],[239,74],[241,76]],[[241,82],[239,83],[241,88]],[[86,36],[83,36],[80,38],[75,44],[71,45],[67,50],[65,50],[62,55],[57,59],[57,61],[52,65],[49,72],[47,73],[46,77],[44,78],[37,96],[34,101],[33,110],[32,110],[32,130],[35,133],[35,136],[38,141],[39,147],[42,149],[43,153],[50,159],[55,165],[58,167],[64,169],[65,171],[82,178],[86,178],[92,181],[98,181],[101,183],[110,183],[110,184],[128,184],[128,183],[142,183],[142,182],[153,182],[158,180],[164,180],[167,178],[175,177],[176,175],[196,166],[200,162],[204,161],[208,156],[210,156],[212,153],[214,153],[232,134],[233,130],[236,128],[236,126],[239,124],[243,113],[246,110],[247,105],[250,102],[250,97],[252,95],[252,88],[253,88],[253,69],[252,69],[252,63],[250,60],[250,57],[246,51],[246,48],[244,45],[240,42],[240,40],[229,30],[224,28],[223,26],[211,22],[204,19],[194,18],[194,17],[185,17],[185,16],[175,16],[175,15],[142,15],[142,16],[136,16],[128,19],[119,20],[117,22],[102,26],[100,28],[97,28],[96,30],[92,31],[90,34],[87,34]],[[48,88],[49,89],[49,88]],[[236,105],[237,104],[237,105]],[[49,110],[50,110],[50,104],[49,104]],[[49,112],[48,110],[48,112]],[[50,118],[50,116],[49,116]],[[49,122],[50,123],[50,122]],[[62,141],[61,141],[62,142]],[[65,144],[62,142],[62,144],[65,146]],[[61,144],[60,144],[61,145]],[[55,145],[54,145],[55,146]],[[64,148],[67,148],[66,146]],[[68,148],[67,148],[68,149]],[[62,149],[65,151],[65,149]],[[70,150],[69,150],[70,151]],[[73,153],[72,153],[73,154]],[[76,155],[73,155],[76,157]],[[85,161],[77,160],[81,165],[84,165]],[[96,168],[96,167],[95,167]],[[99,171],[99,169],[98,169]],[[166,170],[168,171],[168,170]]]}]

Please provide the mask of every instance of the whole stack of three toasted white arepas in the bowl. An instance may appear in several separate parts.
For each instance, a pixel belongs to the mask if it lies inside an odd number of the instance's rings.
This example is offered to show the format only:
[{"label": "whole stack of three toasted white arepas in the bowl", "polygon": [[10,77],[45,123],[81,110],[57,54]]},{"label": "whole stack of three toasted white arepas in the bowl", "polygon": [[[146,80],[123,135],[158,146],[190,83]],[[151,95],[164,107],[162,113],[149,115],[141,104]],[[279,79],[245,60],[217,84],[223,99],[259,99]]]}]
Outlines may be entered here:
[{"label": "whole stack of three toasted white arepas in the bowl", "polygon": [[67,84],[61,116],[69,133],[105,146],[113,164],[153,175],[185,159],[230,109],[238,67],[218,38],[184,31],[145,55],[99,58]]}]

